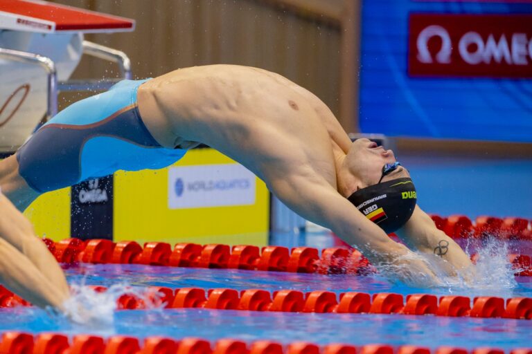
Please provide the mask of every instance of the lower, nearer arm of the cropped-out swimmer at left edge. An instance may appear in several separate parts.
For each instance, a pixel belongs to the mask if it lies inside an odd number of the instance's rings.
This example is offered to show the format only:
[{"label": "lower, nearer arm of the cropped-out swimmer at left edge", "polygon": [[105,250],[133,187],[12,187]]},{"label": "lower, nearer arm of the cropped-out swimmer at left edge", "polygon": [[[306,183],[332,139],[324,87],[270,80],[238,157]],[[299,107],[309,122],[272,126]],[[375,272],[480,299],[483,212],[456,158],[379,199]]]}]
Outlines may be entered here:
[{"label": "lower, nearer arm of the cropped-out swimmer at left edge", "polygon": [[24,254],[3,239],[0,239],[0,284],[42,308],[63,310],[62,304],[68,298]]}]

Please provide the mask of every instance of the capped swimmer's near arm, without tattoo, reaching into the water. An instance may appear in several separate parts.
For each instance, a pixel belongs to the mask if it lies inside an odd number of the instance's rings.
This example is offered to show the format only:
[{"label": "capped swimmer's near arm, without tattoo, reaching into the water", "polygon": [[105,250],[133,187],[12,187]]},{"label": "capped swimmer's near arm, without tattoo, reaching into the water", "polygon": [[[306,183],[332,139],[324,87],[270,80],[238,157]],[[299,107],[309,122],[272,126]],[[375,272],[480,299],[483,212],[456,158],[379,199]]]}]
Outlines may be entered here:
[{"label": "capped swimmer's near arm, without tattoo, reaching into the water", "polygon": [[[393,267],[393,277],[416,286],[434,286],[438,279],[427,264],[404,245],[391,240],[374,223],[362,216],[355,206],[312,168],[278,174],[269,179],[269,188],[294,212],[330,228],[335,234],[360,250],[374,265]],[[268,178],[267,178],[268,179]],[[419,275],[425,274],[423,277]]]}]

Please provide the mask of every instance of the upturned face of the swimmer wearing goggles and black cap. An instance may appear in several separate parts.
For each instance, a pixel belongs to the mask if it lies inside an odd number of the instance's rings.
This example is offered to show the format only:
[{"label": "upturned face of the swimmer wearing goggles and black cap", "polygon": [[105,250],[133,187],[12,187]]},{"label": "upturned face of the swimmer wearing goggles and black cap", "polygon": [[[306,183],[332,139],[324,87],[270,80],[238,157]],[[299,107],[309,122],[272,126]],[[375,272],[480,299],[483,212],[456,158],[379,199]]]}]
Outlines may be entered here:
[{"label": "upturned face of the swimmer wearing goggles and black cap", "polygon": [[[393,151],[385,150],[369,139],[357,139],[351,145],[344,163],[348,170],[361,181],[361,188],[375,185],[382,176],[382,167],[387,163],[396,162]],[[382,182],[395,178],[409,177],[407,169],[398,167],[382,178]]]}]

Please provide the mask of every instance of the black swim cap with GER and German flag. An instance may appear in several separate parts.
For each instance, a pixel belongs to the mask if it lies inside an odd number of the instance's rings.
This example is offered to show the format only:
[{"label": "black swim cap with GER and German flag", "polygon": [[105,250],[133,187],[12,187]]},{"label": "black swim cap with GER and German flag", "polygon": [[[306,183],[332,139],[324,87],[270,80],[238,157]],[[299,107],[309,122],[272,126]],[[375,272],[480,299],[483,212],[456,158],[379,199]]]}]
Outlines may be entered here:
[{"label": "black swim cap with GER and German flag", "polygon": [[396,178],[357,190],[348,200],[387,234],[405,225],[416,207],[416,187],[410,178]]}]

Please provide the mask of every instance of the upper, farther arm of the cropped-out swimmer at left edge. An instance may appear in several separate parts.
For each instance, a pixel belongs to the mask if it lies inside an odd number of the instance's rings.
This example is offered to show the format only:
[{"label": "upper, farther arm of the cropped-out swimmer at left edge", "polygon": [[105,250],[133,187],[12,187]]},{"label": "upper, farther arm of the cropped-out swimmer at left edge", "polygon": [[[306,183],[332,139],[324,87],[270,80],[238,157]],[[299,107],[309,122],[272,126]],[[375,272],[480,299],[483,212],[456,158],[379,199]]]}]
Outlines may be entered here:
[{"label": "upper, farther arm of the cropped-out swimmer at left edge", "polygon": [[0,239],[27,257],[28,261],[39,270],[39,274],[42,274],[62,295],[68,296],[69,286],[59,264],[44,242],[37,239],[30,221],[1,192]]}]

